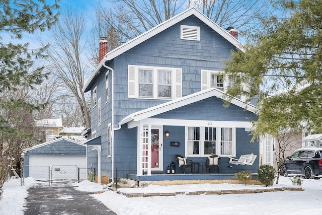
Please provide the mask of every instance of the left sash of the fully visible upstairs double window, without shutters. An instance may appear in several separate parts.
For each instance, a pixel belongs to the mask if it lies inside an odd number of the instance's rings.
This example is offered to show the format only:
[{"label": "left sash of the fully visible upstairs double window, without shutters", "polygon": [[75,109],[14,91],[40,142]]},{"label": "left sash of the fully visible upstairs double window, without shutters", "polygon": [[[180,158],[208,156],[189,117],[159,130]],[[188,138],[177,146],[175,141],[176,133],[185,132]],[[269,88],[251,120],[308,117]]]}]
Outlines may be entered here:
[{"label": "left sash of the fully visible upstairs double window, without shutters", "polygon": [[139,69],[139,96],[153,96],[152,69]]}]

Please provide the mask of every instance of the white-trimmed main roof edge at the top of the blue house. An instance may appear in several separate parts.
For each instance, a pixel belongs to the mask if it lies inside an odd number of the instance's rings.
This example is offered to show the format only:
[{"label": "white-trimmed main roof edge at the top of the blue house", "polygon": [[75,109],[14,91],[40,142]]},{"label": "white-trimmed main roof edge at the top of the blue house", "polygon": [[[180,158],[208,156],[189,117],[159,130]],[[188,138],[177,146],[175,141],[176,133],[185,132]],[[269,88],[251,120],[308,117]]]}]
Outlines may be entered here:
[{"label": "white-trimmed main roof edge at the top of the blue house", "polygon": [[188,9],[184,11],[181,14],[178,14],[177,16],[160,23],[159,25],[155,26],[154,28],[146,31],[145,33],[135,37],[134,39],[124,43],[123,45],[113,49],[112,51],[108,52],[105,57],[101,60],[100,64],[97,66],[97,68],[94,70],[93,74],[91,75],[90,79],[87,81],[87,83],[84,86],[84,92],[88,92],[91,87],[91,83],[95,76],[99,73],[100,68],[103,66],[103,64],[106,61],[112,60],[115,57],[119,56],[120,54],[124,53],[125,51],[133,48],[134,46],[144,42],[145,40],[153,37],[154,35],[170,28],[171,26],[179,23],[180,21],[186,19],[187,17],[190,17],[191,15],[196,16],[198,19],[200,19],[202,22],[204,22],[206,25],[208,25],[210,28],[212,28],[214,31],[216,31],[219,35],[221,35],[223,38],[225,38],[228,42],[230,42],[232,45],[234,45],[236,48],[245,51],[245,47],[243,44],[241,44],[236,38],[234,38],[231,34],[229,34],[227,31],[222,29],[220,26],[218,26],[216,23],[214,23],[211,19],[206,17],[204,14],[199,12],[195,8]]}]

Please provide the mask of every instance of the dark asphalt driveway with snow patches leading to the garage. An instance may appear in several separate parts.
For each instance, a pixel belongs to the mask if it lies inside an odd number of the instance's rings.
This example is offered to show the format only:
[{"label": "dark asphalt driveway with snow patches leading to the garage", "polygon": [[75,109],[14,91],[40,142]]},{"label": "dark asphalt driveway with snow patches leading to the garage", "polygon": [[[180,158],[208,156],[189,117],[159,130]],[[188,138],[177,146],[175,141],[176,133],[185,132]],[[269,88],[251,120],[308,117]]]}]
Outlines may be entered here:
[{"label": "dark asphalt driveway with snow patches leading to the garage", "polygon": [[24,214],[116,214],[92,192],[78,191],[70,185],[34,186],[28,189]]}]

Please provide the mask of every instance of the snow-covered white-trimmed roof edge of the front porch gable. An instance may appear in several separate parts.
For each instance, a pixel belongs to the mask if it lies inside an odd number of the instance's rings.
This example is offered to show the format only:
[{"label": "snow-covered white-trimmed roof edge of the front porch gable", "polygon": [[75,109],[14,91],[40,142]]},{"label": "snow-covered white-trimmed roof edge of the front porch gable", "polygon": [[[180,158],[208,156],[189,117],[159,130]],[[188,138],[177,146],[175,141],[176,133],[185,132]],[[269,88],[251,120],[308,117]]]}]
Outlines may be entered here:
[{"label": "snow-covered white-trimmed roof edge of the front porch gable", "polygon": [[[201,101],[203,99],[210,98],[213,96],[216,96],[217,98],[223,98],[224,95],[225,93],[222,92],[221,90],[218,90],[216,88],[210,88],[194,94],[190,94],[188,96],[184,96],[179,99],[175,99],[160,105],[156,105],[156,106],[132,113],[126,116],[125,118],[123,118],[119,122],[119,125],[123,125],[130,121],[139,121],[141,119],[146,119],[148,117],[155,116],[157,114],[161,114],[161,113],[164,113],[188,104],[192,104],[194,102]],[[233,98],[230,103],[236,106],[239,106],[241,108],[244,108],[248,111],[251,111],[253,113],[255,113],[255,111],[257,110],[256,106],[252,104],[247,104],[237,98]]]}]

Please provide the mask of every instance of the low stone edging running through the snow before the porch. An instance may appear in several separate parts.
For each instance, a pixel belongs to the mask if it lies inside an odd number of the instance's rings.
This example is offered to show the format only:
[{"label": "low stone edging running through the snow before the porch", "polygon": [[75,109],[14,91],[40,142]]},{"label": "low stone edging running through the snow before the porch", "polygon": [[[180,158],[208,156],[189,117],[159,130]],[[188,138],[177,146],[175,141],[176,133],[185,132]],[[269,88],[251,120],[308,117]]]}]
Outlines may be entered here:
[{"label": "low stone edging running through the snow before the porch", "polygon": [[134,188],[130,190],[118,189],[117,193],[123,194],[128,198],[131,197],[151,197],[151,196],[175,196],[175,195],[222,195],[222,194],[242,194],[242,193],[263,193],[263,192],[276,192],[276,191],[303,191],[302,187],[279,187],[279,188],[259,188],[259,189],[242,189],[242,190],[200,190],[192,192],[184,191],[168,191],[164,193],[160,192],[142,192],[138,189],[137,192],[134,192]]}]

